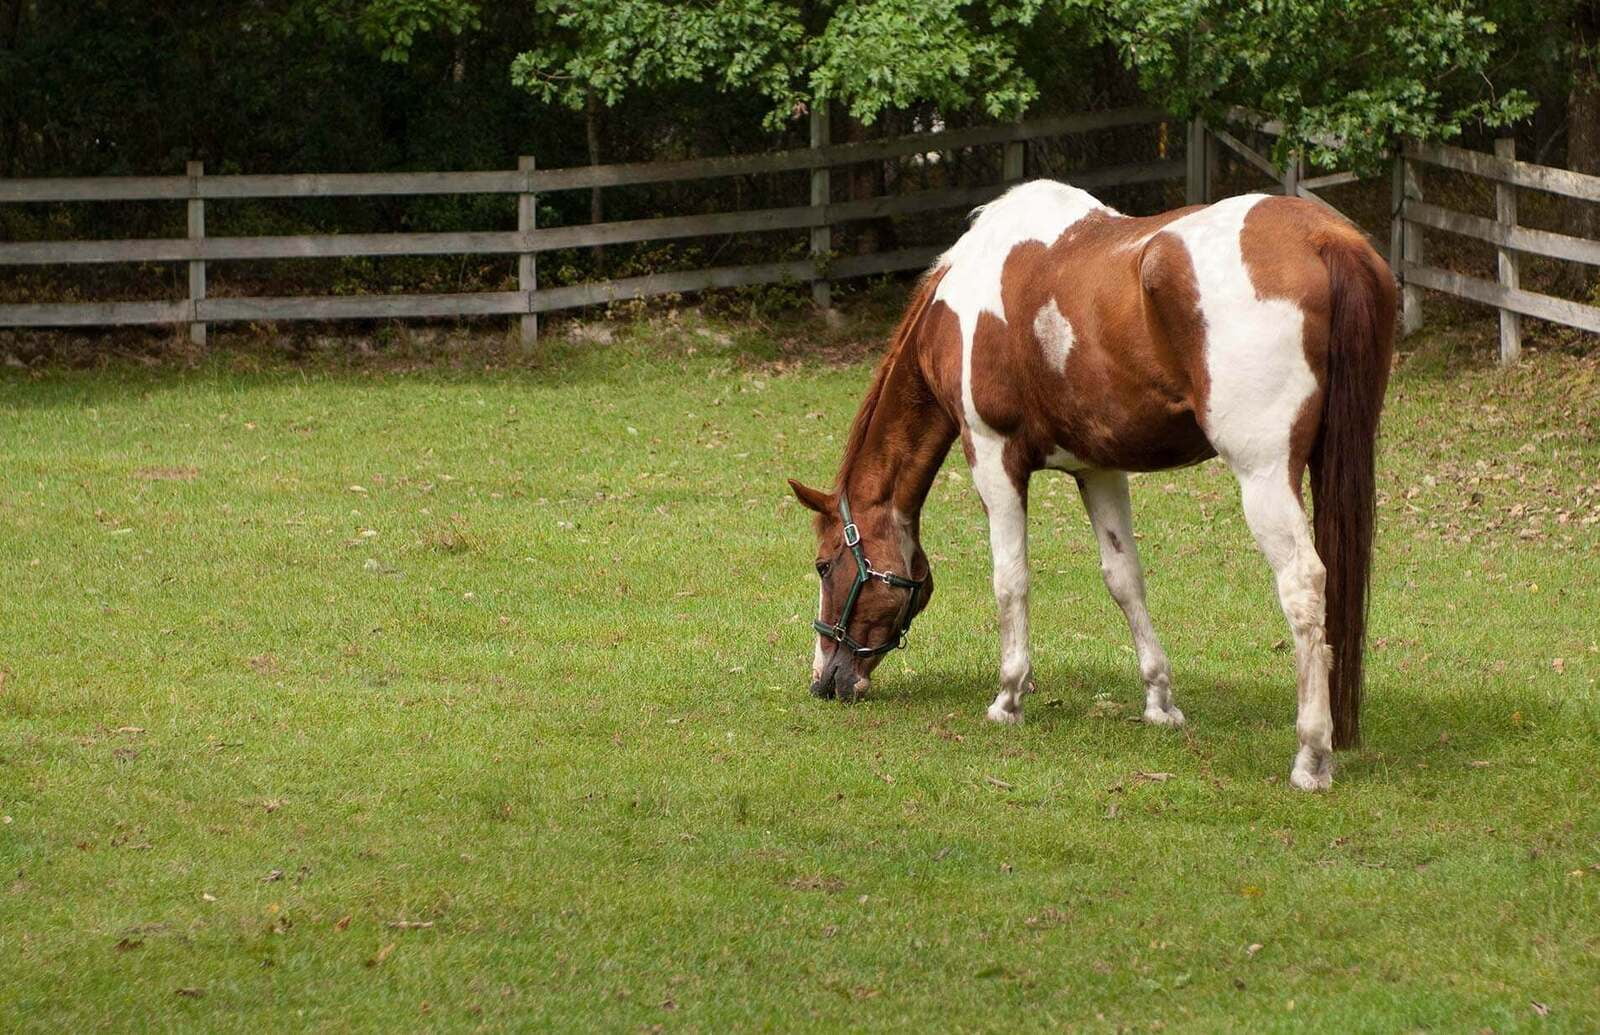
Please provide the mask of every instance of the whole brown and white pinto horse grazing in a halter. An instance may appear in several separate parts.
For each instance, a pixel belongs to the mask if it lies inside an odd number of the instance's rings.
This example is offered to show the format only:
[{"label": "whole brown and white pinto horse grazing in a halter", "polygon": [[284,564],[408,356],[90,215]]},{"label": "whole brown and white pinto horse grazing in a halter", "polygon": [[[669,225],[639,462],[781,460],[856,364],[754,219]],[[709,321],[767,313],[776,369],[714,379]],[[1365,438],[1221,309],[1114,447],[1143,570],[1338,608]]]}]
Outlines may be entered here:
[{"label": "whole brown and white pinto horse grazing in a halter", "polygon": [[[998,723],[1034,689],[1027,483],[1077,478],[1101,573],[1133,632],[1144,720],[1184,721],[1144,605],[1130,470],[1221,456],[1294,633],[1299,752],[1326,789],[1358,739],[1371,561],[1373,451],[1395,288],[1349,222],[1299,198],[1245,195],[1123,216],[1051,181],[1011,189],[917,286],[816,512],[811,691],[854,697],[933,593],[918,528],[958,437],[989,514],[1000,609]],[[1301,501],[1310,467],[1315,536]]]}]

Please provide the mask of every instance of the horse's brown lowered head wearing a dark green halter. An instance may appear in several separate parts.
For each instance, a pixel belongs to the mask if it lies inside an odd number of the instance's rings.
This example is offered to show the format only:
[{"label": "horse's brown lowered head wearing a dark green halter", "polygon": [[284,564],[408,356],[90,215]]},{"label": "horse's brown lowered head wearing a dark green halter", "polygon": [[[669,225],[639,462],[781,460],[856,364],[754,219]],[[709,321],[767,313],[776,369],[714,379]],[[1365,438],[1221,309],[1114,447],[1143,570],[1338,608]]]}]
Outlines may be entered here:
[{"label": "horse's brown lowered head wearing a dark green halter", "polygon": [[910,621],[933,597],[933,571],[915,525],[888,502],[853,506],[843,493],[789,482],[816,512],[816,614],[811,693],[854,701],[885,654],[904,646]]}]

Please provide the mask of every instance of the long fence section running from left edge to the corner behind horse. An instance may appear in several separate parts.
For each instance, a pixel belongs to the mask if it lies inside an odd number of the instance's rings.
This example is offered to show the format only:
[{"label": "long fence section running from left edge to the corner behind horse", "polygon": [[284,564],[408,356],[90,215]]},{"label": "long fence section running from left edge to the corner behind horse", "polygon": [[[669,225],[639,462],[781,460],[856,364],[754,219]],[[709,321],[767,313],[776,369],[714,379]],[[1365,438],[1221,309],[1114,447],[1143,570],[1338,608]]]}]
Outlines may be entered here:
[{"label": "long fence section running from left edge to the corner behind horse", "polygon": [[[846,277],[920,269],[939,248],[902,248],[864,256],[830,256],[832,227],[883,216],[971,208],[1022,179],[1027,141],[1166,122],[1155,109],[1118,109],[1016,125],[976,126],[918,133],[885,141],[834,144],[824,112],[813,115],[811,146],[762,155],[696,158],[539,170],[531,157],[517,170],[483,173],[376,173],[306,176],[205,176],[190,163],[186,176],[130,176],[96,179],[0,181],[0,203],[16,202],[184,202],[189,234],[182,238],[29,242],[0,243],[0,266],[83,262],[187,262],[189,296],[171,301],[118,301],[0,306],[0,326],[94,326],[134,323],[187,323],[197,342],[208,323],[229,320],[342,320],[397,317],[517,315],[525,342],[538,334],[538,314],[594,306],[629,298],[730,288],[778,282],[810,282],[813,298],[829,304],[830,282]],[[970,147],[1003,147],[1002,182],[976,187],[941,187],[890,197],[834,202],[829,171],[834,166],[952,152]],[[810,171],[811,203],[696,216],[666,216],[602,224],[538,227],[534,200],[554,190],[587,190],[629,184],[674,182],[746,176],[757,173]],[[1072,182],[1096,189],[1157,182],[1184,176],[1181,160],[1146,162],[1094,170]],[[208,237],[205,203],[221,198],[309,198],[421,194],[517,195],[517,229],[445,234],[315,234],[294,237]],[[805,230],[810,256],[787,262],[698,269],[594,283],[539,286],[538,256],[558,248],[587,248],[630,242],[656,242],[718,234]],[[366,294],[309,298],[208,298],[206,262],[222,259],[298,259],[398,254],[514,254],[515,291],[454,294]]]}]

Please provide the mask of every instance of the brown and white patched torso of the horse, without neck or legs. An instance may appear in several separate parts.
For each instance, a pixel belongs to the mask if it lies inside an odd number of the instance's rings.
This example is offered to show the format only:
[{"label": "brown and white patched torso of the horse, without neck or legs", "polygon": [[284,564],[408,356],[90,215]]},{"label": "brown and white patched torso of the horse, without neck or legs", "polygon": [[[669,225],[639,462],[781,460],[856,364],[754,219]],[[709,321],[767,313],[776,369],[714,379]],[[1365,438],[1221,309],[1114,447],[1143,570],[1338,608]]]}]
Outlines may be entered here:
[{"label": "brown and white patched torso of the horse, without neck or legs", "polygon": [[1370,251],[1298,198],[1130,218],[1064,184],[1018,187],[939,262],[950,408],[1026,466],[1274,451],[1320,400],[1330,245]]}]

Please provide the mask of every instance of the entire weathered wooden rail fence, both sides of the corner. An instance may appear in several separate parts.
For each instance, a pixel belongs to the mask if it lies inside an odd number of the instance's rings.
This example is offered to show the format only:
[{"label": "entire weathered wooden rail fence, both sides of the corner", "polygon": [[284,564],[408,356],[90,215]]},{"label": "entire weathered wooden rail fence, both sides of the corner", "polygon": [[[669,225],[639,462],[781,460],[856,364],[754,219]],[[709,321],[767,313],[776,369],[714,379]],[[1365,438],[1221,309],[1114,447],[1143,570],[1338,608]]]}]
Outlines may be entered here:
[{"label": "entire weathered wooden rail fence, both sides of the corner", "polygon": [[[531,157],[525,157],[518,162],[517,170],[506,171],[304,176],[205,176],[200,163],[189,163],[184,176],[0,181],[0,203],[166,200],[184,202],[189,214],[187,237],[181,238],[0,243],[0,267],[86,262],[187,262],[189,266],[189,294],[182,299],[10,304],[0,306],[0,326],[187,323],[194,341],[203,342],[208,323],[230,320],[515,315],[520,318],[523,341],[533,342],[538,334],[538,314],[542,312],[706,288],[810,282],[814,301],[826,307],[830,301],[834,280],[922,269],[941,251],[941,248],[926,246],[835,258],[830,254],[835,226],[883,216],[971,208],[994,198],[1006,186],[1024,178],[1029,141],[1170,122],[1171,117],[1165,112],[1141,107],[1042,118],[1016,125],[917,133],[885,141],[834,144],[826,112],[816,112],[811,117],[810,147],[688,162],[539,170]],[[1187,126],[1187,154],[1182,160],[1101,168],[1072,174],[1069,179],[1085,189],[1184,179],[1189,202],[1205,203],[1216,200],[1219,157],[1232,154],[1272,181],[1266,192],[1309,198],[1328,208],[1333,206],[1317,192],[1357,179],[1354,173],[1347,171],[1310,176],[1298,158],[1283,165],[1275,163],[1267,154],[1250,147],[1242,139],[1250,133],[1278,136],[1282,126],[1245,110],[1232,112],[1229,120],[1221,125],[1192,120]],[[835,166],[992,146],[1003,149],[998,182],[939,187],[853,202],[832,200],[830,170]],[[1440,166],[1494,181],[1496,218],[1485,219],[1426,203],[1418,187],[1418,165]],[[555,190],[786,171],[810,173],[810,205],[562,227],[539,227],[534,219],[538,195]],[[1520,286],[1520,253],[1600,266],[1600,242],[1517,226],[1515,192],[1518,187],[1600,202],[1600,178],[1517,162],[1510,141],[1501,141],[1494,155],[1443,144],[1408,144],[1403,154],[1395,158],[1390,182],[1389,240],[1387,245],[1382,240],[1373,240],[1373,245],[1390,261],[1402,283],[1405,333],[1416,330],[1421,323],[1421,291],[1424,288],[1498,307],[1501,310],[1501,357],[1504,362],[1515,360],[1520,352],[1523,315],[1600,333],[1600,307],[1536,294]],[[208,237],[205,229],[206,200],[424,194],[515,195],[517,229],[293,237]],[[1424,229],[1462,234],[1493,243],[1498,250],[1498,280],[1467,277],[1427,266],[1422,261]],[[808,258],[539,286],[538,256],[558,248],[771,230],[805,230],[810,235]],[[517,256],[517,290],[306,298],[206,296],[208,261],[402,254],[514,254]]]}]

